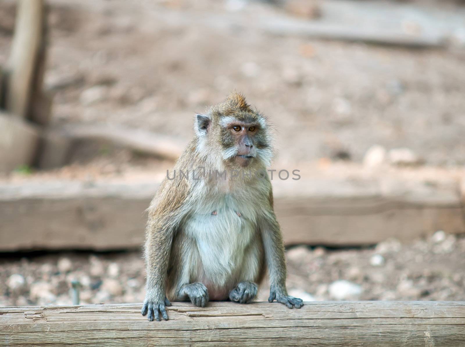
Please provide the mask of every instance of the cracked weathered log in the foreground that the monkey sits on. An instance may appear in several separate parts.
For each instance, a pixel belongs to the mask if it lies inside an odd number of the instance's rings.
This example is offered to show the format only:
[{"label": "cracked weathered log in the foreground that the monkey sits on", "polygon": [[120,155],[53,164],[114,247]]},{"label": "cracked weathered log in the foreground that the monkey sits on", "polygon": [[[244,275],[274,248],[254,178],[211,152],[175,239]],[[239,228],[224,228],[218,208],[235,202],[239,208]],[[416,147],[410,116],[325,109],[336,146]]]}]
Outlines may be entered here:
[{"label": "cracked weathered log in the foreground that the monkey sits on", "polygon": [[140,307],[0,307],[0,346],[465,345],[464,301],[173,303],[161,322]]}]

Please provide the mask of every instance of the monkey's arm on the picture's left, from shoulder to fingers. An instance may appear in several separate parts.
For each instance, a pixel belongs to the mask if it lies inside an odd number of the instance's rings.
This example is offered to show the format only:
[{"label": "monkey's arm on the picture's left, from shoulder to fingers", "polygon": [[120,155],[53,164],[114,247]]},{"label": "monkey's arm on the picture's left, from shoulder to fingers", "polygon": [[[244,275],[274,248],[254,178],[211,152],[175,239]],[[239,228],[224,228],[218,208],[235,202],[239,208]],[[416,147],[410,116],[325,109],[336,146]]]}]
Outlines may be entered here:
[{"label": "monkey's arm on the picture's left, from shoulder to fingers", "polygon": [[149,207],[146,228],[146,298],[142,306],[142,315],[148,320],[168,319],[166,306],[171,303],[166,298],[166,274],[174,232],[183,217],[181,208],[188,195],[186,180],[165,180],[160,186],[157,197]]}]

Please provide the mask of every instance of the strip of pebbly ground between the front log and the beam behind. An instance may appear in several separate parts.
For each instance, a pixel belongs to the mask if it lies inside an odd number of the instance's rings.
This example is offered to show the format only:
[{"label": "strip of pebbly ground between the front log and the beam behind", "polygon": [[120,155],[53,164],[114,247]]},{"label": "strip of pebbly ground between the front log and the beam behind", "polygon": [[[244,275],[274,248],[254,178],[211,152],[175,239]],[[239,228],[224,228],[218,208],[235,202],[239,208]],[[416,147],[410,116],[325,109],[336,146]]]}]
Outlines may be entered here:
[{"label": "strip of pebbly ground between the front log and the beam behind", "polygon": [[[365,249],[293,247],[286,253],[289,293],[303,300],[465,300],[465,237],[437,232],[410,245],[387,240]],[[0,306],[142,302],[139,252],[13,255],[0,259]],[[257,300],[265,301],[265,282]]]}]

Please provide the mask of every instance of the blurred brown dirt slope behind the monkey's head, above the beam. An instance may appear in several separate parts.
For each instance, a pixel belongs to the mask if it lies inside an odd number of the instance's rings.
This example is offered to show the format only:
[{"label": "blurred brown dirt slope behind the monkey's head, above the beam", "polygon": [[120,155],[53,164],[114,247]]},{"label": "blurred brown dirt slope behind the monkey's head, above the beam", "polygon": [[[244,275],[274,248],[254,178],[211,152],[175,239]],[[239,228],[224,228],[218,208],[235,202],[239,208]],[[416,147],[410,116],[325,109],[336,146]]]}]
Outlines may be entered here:
[{"label": "blurred brown dirt slope behind the monkey's head, above the beam", "polygon": [[[306,39],[228,23],[212,29],[212,18],[228,13],[253,20],[281,11],[259,1],[239,1],[239,9],[226,0],[48,2],[54,124],[190,137],[193,114],[237,89],[275,123],[284,163],[360,161],[373,144],[409,147],[435,165],[465,162],[461,50]],[[4,18],[8,3],[0,3]],[[0,30],[0,64],[10,40]]]}]

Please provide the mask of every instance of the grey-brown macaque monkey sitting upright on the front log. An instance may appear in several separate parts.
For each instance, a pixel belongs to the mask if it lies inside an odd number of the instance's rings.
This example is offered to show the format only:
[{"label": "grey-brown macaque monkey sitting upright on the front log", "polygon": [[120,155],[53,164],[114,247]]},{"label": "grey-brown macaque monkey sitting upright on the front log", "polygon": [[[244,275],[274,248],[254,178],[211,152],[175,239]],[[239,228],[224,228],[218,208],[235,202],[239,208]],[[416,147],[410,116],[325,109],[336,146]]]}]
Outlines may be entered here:
[{"label": "grey-brown macaque monkey sitting upright on the front log", "polygon": [[198,307],[210,300],[250,303],[266,269],[268,301],[302,307],[301,299],[287,294],[284,244],[268,175],[232,174],[266,172],[274,154],[269,121],[233,92],[195,115],[194,133],[174,172],[202,168],[203,173],[188,179],[167,175],[147,209],[142,315],[168,320],[171,301],[190,300]]}]

